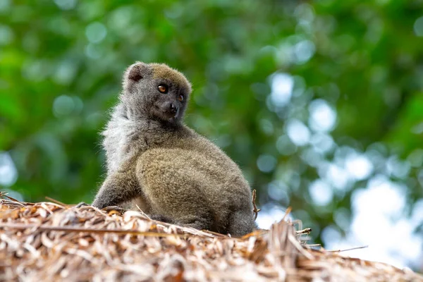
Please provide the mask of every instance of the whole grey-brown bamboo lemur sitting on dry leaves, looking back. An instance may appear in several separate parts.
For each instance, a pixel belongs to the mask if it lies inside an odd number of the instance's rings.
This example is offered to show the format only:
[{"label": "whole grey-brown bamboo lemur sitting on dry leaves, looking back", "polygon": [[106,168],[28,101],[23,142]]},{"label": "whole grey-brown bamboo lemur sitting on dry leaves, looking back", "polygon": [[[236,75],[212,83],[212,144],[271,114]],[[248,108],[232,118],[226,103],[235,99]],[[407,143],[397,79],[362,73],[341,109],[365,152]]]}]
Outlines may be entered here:
[{"label": "whole grey-brown bamboo lemur sitting on dry leaves, looking back", "polygon": [[240,168],[183,124],[191,92],[182,73],[137,62],[106,125],[107,176],[92,205],[136,200],[157,219],[233,236],[255,228],[251,191]]}]

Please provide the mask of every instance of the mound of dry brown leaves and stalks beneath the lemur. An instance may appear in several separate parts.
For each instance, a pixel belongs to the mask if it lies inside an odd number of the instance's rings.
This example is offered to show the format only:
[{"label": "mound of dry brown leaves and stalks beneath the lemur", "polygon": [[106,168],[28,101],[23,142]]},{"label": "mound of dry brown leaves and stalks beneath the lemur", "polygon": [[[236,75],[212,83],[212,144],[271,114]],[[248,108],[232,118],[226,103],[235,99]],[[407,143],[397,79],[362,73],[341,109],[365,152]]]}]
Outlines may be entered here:
[{"label": "mound of dry brown leaves and stalks beneath the lemur", "polygon": [[244,238],[54,202],[0,200],[0,281],[423,281],[311,250],[282,220]]}]

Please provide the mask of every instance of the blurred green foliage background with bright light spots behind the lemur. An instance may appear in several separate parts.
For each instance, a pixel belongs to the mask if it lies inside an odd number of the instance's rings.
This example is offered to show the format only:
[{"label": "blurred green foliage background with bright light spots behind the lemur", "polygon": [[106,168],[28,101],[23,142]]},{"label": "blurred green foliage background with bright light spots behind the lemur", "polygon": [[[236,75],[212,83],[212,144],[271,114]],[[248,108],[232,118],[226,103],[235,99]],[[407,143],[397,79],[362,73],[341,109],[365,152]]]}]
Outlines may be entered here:
[{"label": "blurred green foliage background with bright light spots behind the lemur", "polygon": [[422,0],[1,0],[1,190],[91,202],[134,61],[187,75],[186,123],[241,166],[261,227],[290,206],[314,242],[422,271]]}]

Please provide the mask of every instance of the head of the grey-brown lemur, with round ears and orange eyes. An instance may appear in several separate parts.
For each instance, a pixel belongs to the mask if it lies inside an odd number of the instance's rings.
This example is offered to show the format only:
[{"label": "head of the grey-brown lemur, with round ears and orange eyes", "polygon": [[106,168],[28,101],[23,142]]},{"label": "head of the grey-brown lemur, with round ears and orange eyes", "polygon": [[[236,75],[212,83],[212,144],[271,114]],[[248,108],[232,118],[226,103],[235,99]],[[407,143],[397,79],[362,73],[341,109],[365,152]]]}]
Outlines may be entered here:
[{"label": "head of the grey-brown lemur, with round ears and orange eyes", "polygon": [[190,93],[190,82],[182,73],[164,63],[137,62],[123,75],[121,101],[130,119],[180,123]]}]

